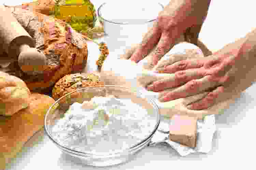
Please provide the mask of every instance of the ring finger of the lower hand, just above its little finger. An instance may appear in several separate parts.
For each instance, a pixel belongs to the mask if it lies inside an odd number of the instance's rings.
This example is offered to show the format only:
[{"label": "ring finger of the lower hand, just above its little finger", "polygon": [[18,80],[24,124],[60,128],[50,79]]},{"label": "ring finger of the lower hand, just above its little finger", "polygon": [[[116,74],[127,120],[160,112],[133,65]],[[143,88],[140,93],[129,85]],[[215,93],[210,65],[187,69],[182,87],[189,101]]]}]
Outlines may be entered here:
[{"label": "ring finger of the lower hand, just above its little finger", "polygon": [[209,88],[217,87],[219,84],[216,81],[210,81],[211,76],[207,75],[202,79],[191,80],[176,90],[169,92],[166,96],[159,99],[160,102],[167,102],[179,98],[185,98],[188,96],[197,95],[203,91],[207,91]]}]

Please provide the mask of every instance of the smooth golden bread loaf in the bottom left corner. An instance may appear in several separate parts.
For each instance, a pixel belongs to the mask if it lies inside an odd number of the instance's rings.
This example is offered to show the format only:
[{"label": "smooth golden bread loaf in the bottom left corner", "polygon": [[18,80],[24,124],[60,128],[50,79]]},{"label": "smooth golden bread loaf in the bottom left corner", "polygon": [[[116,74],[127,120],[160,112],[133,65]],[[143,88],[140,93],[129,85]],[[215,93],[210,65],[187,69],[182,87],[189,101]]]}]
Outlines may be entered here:
[{"label": "smooth golden bread loaf in the bottom left corner", "polygon": [[27,108],[13,116],[0,116],[0,169],[4,169],[25,142],[43,127],[47,109],[54,102],[49,96],[32,93]]}]

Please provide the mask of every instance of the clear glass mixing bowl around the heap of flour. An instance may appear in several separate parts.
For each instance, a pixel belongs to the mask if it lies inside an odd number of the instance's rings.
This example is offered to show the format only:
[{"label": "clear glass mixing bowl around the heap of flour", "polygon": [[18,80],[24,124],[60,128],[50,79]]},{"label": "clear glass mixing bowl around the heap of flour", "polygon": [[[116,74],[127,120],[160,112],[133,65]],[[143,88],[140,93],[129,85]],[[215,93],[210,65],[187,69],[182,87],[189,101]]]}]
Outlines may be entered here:
[{"label": "clear glass mixing bowl around the heap of flour", "polygon": [[[109,153],[100,153],[95,154],[91,152],[80,152],[72,150],[65,146],[62,146],[57,140],[53,137],[51,129],[56,123],[56,120],[61,119],[63,114],[69,109],[69,106],[75,102],[83,103],[84,101],[89,101],[95,96],[106,97],[108,95],[113,95],[115,98],[119,99],[131,99],[133,103],[140,105],[145,108],[147,113],[150,114],[155,120],[154,129],[148,134],[148,136],[141,140],[131,148],[127,148],[122,151],[109,152]],[[151,142],[153,134],[157,131],[157,128],[160,123],[160,115],[158,112],[158,107],[156,103],[143,94],[140,94],[137,91],[131,90],[130,88],[125,88],[121,86],[95,86],[95,87],[85,87],[76,91],[73,91],[60,99],[58,99],[47,111],[44,119],[44,130],[47,136],[59,147],[59,149],[72,157],[78,158],[82,161],[83,164],[91,166],[111,166],[120,163],[124,163],[134,154],[138,153],[141,149],[148,146]]]}]

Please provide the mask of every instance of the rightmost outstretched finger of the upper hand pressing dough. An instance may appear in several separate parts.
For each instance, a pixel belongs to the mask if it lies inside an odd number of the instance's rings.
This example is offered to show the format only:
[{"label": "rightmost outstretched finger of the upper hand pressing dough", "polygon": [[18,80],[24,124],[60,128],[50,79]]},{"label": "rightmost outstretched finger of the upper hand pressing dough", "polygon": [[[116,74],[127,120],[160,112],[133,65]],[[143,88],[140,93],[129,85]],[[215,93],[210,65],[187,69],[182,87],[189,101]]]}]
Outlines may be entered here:
[{"label": "rightmost outstretched finger of the upper hand pressing dough", "polygon": [[170,32],[163,32],[158,44],[156,45],[155,52],[152,55],[153,64],[156,65],[158,61],[170,51],[174,46],[174,38]]}]

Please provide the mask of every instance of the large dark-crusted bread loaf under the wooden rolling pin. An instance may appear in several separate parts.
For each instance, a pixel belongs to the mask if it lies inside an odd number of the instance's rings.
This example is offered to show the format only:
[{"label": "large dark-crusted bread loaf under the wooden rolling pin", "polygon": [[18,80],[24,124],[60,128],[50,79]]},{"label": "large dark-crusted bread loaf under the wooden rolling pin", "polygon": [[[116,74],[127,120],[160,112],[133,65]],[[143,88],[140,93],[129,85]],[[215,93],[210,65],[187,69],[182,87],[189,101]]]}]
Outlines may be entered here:
[{"label": "large dark-crusted bread loaf under the wooden rolling pin", "polygon": [[42,93],[49,92],[49,87],[64,75],[83,70],[87,63],[88,49],[82,34],[56,18],[22,8],[10,9],[12,15],[35,39],[37,49],[43,51],[46,66],[34,68],[24,63],[22,70],[34,72],[33,76],[24,73],[17,64],[8,73],[24,80],[30,91]]}]

